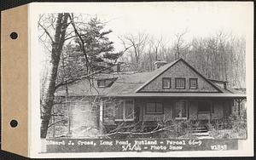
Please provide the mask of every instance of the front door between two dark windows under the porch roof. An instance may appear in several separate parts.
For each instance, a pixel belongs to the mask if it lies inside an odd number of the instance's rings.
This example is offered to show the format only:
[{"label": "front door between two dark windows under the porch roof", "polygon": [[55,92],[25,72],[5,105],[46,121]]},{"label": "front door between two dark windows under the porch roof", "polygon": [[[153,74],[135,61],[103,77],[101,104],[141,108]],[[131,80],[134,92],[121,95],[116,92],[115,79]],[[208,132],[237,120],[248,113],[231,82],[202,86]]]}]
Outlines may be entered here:
[{"label": "front door between two dark windows under the porch roof", "polygon": [[188,108],[186,101],[177,101],[174,106],[174,116],[175,119],[187,119],[188,118]]}]

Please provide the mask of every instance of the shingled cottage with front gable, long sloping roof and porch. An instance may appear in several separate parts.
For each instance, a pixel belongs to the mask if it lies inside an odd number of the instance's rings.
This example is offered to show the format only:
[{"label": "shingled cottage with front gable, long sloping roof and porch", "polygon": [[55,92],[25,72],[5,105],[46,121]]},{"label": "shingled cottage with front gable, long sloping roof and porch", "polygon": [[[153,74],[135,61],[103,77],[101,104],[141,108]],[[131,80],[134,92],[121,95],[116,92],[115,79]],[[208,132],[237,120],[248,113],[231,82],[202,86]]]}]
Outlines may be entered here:
[{"label": "shingled cottage with front gable, long sloping roof and porch", "polygon": [[[69,85],[68,99],[73,101],[71,110],[76,114],[81,115],[81,111],[75,109],[78,107],[92,113],[93,107],[88,106],[88,100],[90,104],[99,102],[92,105],[98,108],[94,109],[94,116],[86,113],[84,120],[79,118],[76,123],[73,117],[73,128],[79,123],[105,128],[120,122],[154,125],[161,120],[208,123],[229,117],[237,106],[235,103],[238,104],[237,114],[240,114],[241,101],[246,99],[246,95],[230,89],[227,82],[202,76],[183,59],[169,64],[160,61],[155,65],[156,69],[150,72],[101,74],[95,78],[93,88],[89,87],[91,84],[87,80]],[[60,89],[56,95],[65,95],[65,89]]]}]

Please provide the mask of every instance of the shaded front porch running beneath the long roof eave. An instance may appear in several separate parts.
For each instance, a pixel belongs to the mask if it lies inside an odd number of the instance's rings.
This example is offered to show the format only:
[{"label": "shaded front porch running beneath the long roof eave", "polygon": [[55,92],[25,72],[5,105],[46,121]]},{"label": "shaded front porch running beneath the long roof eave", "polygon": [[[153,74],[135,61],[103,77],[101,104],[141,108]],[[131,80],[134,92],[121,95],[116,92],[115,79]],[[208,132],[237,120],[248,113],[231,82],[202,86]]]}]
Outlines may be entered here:
[{"label": "shaded front porch running beneath the long roof eave", "polygon": [[244,99],[168,97],[117,99],[116,101],[118,104],[115,102],[104,105],[102,110],[104,125],[144,122],[144,125],[154,126],[157,122],[180,120],[210,123],[212,120],[229,117],[234,111],[240,114]]}]

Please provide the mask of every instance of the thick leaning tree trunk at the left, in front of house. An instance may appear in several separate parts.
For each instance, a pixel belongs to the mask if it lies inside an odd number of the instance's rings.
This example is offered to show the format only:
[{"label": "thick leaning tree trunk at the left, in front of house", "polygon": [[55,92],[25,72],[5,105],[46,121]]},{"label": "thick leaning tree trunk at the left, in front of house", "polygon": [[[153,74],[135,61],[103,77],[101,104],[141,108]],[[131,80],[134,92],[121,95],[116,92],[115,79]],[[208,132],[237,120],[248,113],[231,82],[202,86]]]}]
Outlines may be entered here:
[{"label": "thick leaning tree trunk at the left, in front of house", "polygon": [[55,38],[52,42],[51,59],[49,61],[49,74],[46,77],[44,97],[41,104],[41,138],[46,138],[49,126],[49,119],[55,99],[55,81],[58,75],[58,66],[61,57],[62,47],[65,41],[67,30],[68,14],[58,14],[55,25]]}]

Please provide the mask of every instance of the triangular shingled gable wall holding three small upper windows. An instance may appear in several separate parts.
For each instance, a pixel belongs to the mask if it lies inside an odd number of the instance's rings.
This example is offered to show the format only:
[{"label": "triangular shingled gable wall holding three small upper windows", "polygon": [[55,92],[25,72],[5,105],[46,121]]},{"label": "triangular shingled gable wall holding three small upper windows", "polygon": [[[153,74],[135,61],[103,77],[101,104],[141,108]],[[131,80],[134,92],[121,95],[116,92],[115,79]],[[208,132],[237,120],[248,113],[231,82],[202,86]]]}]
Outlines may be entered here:
[{"label": "triangular shingled gable wall holding three small upper windows", "polygon": [[[162,78],[171,78],[171,89],[162,89]],[[185,89],[175,89],[175,78],[185,78]],[[197,78],[197,89],[189,89],[189,78]],[[222,93],[221,89],[203,77],[194,67],[190,66],[185,60],[179,59],[171,64],[160,67],[153,77],[136,90],[141,92],[207,92]]]}]

